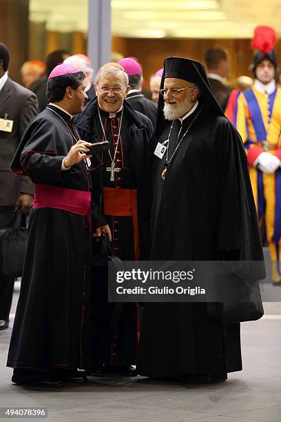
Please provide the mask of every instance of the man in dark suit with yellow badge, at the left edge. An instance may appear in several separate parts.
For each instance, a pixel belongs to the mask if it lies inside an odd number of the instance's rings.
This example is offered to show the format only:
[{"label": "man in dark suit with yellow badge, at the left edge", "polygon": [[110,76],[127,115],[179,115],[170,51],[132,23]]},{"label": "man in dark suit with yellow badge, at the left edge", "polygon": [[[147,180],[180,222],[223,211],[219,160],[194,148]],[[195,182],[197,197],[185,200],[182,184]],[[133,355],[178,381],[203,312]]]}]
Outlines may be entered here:
[{"label": "man in dark suit with yellow badge, at the left edge", "polygon": [[[33,184],[29,177],[9,171],[26,125],[38,113],[36,95],[8,77],[10,54],[0,43],[0,229],[5,227],[16,205],[28,212],[33,204]],[[0,269],[0,330],[8,328],[14,279]]]}]

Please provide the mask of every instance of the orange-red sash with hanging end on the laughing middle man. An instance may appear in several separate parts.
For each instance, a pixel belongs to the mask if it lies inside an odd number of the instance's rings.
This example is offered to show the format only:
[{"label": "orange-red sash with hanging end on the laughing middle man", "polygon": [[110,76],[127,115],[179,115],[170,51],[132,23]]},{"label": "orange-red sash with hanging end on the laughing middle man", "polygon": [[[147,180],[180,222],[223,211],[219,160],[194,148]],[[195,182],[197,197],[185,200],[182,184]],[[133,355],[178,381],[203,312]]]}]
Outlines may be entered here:
[{"label": "orange-red sash with hanging end on the laughing middle man", "polygon": [[135,259],[140,256],[138,239],[138,212],[136,189],[103,188],[104,210],[107,215],[128,216],[132,215],[134,227],[134,252]]}]

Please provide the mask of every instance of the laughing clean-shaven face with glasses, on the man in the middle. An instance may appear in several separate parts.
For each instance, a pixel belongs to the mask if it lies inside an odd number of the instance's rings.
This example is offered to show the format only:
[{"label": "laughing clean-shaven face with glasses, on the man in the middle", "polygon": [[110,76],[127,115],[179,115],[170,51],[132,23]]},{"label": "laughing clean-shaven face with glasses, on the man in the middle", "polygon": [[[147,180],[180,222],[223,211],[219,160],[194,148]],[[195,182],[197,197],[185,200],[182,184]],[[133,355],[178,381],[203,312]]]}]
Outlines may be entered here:
[{"label": "laughing clean-shaven face with glasses, on the man in the middle", "polygon": [[116,113],[123,106],[130,86],[126,85],[122,70],[101,72],[94,84],[98,106],[105,112]]}]

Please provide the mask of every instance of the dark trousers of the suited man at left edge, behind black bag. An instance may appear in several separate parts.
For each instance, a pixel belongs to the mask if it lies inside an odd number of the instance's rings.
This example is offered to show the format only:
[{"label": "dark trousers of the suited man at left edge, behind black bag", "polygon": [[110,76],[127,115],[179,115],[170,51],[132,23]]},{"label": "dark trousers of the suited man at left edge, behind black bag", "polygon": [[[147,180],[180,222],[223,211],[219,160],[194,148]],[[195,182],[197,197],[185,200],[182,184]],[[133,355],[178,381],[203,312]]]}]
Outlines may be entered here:
[{"label": "dark trousers of the suited man at left edge, behind black bag", "polygon": [[[0,229],[6,227],[12,217],[14,207],[0,206]],[[14,278],[7,277],[0,268],[0,319],[9,320],[12,305],[12,292],[14,290]]]}]

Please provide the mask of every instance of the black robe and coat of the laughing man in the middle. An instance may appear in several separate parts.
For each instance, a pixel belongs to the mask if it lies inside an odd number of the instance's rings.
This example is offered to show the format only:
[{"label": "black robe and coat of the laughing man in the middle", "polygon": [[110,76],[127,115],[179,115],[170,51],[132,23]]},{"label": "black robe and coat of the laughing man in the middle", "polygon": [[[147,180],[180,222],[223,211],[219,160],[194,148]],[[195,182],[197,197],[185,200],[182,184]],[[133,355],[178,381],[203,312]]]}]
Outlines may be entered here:
[{"label": "black robe and coat of the laughing man in the middle", "polygon": [[[116,117],[100,110],[110,152],[114,157],[116,139],[121,122],[121,112]],[[76,118],[81,137],[90,142],[104,141],[98,117],[96,99]],[[131,216],[114,216],[104,213],[104,188],[137,190],[138,232],[141,252],[147,249],[148,201],[147,201],[147,155],[149,139],[152,137],[152,123],[140,113],[124,104],[121,137],[116,150],[116,167],[121,171],[110,181],[109,154],[97,154],[92,158],[92,216],[93,227],[109,224],[112,231],[114,255],[122,260],[134,261],[134,227]],[[94,252],[98,244],[94,239]],[[136,303],[108,303],[107,271],[94,268],[94,363],[95,365],[134,365],[139,334],[139,309]]]}]

